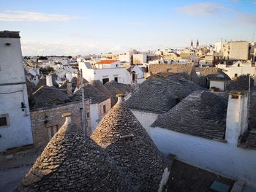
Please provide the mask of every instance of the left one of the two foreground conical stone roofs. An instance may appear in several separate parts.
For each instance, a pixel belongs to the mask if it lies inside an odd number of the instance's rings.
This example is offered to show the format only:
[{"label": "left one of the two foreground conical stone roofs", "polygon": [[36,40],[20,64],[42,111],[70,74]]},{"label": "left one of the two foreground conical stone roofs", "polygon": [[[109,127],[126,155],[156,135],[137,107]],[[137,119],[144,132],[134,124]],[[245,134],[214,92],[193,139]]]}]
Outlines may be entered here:
[{"label": "left one of the two foreground conical stone roofs", "polygon": [[131,191],[116,164],[68,119],[23,178],[19,191]]}]

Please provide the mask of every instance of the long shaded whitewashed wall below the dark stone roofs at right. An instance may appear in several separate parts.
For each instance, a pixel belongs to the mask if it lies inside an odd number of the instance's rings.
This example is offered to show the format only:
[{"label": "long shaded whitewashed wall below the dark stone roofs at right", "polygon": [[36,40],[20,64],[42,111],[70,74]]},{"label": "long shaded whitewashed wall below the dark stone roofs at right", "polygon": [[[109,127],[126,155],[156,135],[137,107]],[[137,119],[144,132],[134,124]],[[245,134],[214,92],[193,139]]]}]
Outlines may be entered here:
[{"label": "long shaded whitewashed wall below the dark stone roofs at right", "polygon": [[234,180],[245,180],[256,187],[256,150],[237,147],[233,142],[217,142],[170,131],[166,128],[152,128],[157,114],[132,110],[162,153],[172,153],[187,164],[216,172]]}]

